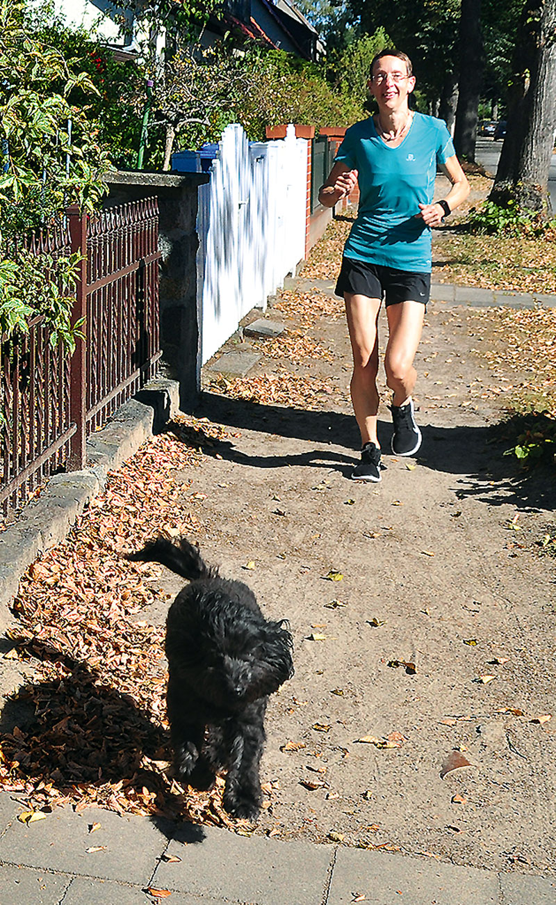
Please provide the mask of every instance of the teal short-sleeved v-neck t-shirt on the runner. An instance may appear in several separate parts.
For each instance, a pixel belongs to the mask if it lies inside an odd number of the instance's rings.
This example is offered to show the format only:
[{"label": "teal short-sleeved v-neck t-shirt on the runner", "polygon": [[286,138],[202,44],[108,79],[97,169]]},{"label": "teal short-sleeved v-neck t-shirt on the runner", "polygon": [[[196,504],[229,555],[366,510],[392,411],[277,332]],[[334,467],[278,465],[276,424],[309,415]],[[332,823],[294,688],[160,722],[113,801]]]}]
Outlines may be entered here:
[{"label": "teal short-sleeved v-neck t-shirt on the runner", "polygon": [[430,228],[415,214],[432,202],[437,164],[455,153],[445,122],[422,113],[398,148],[378,136],[372,117],[347,129],[335,159],[359,171],[360,200],[345,257],[429,273]]}]

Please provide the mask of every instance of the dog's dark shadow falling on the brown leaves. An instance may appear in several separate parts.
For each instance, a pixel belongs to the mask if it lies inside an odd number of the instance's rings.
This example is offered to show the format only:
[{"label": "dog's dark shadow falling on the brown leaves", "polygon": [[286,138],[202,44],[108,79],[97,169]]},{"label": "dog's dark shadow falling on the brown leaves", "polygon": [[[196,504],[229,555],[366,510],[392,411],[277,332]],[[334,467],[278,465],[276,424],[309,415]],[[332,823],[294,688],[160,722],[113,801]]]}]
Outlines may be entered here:
[{"label": "dog's dark shadow falling on the brown leaves", "polygon": [[[184,817],[161,766],[169,752],[164,727],[86,662],[37,639],[15,643],[20,656],[51,662],[57,674],[27,682],[5,701],[0,732],[11,784],[49,787],[45,806],[56,797],[73,803],[82,797],[88,805],[124,813],[137,803],[138,813],[173,837]],[[182,825],[188,841],[203,840],[200,826]]]}]

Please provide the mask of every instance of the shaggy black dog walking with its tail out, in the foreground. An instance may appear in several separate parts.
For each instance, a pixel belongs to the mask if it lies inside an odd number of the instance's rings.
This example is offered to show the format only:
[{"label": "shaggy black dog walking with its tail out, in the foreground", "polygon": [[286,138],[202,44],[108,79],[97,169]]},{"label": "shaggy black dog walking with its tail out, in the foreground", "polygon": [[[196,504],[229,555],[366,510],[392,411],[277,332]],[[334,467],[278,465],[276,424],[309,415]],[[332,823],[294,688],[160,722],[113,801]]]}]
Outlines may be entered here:
[{"label": "shaggy black dog walking with its tail out, in the foreground", "polygon": [[210,788],[227,769],[223,805],[254,820],[261,793],[264,716],[272,691],[293,675],[291,634],[269,622],[240,581],[221,578],[197,548],[157,538],[131,560],[159,562],[191,584],[166,621],[167,710],[178,776]]}]

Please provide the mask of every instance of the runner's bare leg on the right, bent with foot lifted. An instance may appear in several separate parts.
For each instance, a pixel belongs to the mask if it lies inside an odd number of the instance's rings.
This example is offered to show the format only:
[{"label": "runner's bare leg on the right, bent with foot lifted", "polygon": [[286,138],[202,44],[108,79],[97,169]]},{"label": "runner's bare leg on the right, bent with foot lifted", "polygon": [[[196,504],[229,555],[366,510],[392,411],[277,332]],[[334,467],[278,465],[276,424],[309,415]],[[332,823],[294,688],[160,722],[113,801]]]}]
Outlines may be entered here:
[{"label": "runner's bare leg on the right, bent with foot lifted", "polygon": [[384,356],[386,383],[393,392],[392,405],[403,405],[417,381],[413,359],[419,347],[425,306],[420,301],[401,301],[389,305],[386,315],[390,331]]}]

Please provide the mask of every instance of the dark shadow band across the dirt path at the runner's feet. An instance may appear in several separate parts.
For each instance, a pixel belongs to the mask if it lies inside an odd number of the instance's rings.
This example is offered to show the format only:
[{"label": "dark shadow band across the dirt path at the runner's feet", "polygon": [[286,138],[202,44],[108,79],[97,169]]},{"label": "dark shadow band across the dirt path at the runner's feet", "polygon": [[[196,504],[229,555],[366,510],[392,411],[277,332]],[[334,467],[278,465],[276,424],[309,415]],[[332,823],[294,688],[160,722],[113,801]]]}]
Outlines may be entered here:
[{"label": "dark shadow band across the dirt path at the runner's feet", "polygon": [[[349,476],[358,461],[359,432],[351,414],[334,411],[313,411],[261,405],[242,399],[230,399],[203,393],[195,414],[217,424],[249,429],[262,433],[276,433],[280,437],[297,438],[306,442],[348,446],[344,454],[336,448],[284,455],[252,455],[240,451],[229,440],[215,439],[202,427],[180,425],[186,443],[200,447],[210,456],[258,468],[277,468],[284,465],[312,465],[319,463],[327,469]],[[523,469],[514,456],[504,455],[512,445],[512,438],[521,433],[520,416],[497,424],[479,426],[442,427],[419,422],[423,445],[418,462],[438,472],[458,478],[457,493],[474,496],[488,505],[510,504],[523,510],[552,509],[556,505],[556,482],[549,467]],[[392,425],[379,422],[379,435],[385,460],[388,463]]]}]

